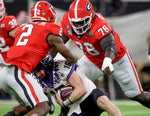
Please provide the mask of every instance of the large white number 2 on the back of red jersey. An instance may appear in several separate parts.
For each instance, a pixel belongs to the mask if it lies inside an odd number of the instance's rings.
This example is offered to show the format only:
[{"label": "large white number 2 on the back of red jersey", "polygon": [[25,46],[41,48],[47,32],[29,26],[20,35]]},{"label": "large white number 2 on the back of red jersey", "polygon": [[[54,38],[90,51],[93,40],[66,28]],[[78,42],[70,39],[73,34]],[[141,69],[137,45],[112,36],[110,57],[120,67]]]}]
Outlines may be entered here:
[{"label": "large white number 2 on the back of red jersey", "polygon": [[[17,45],[26,45],[26,44],[27,44],[27,42],[28,42],[29,39],[27,39],[27,38],[25,38],[25,37],[28,37],[28,36],[31,35],[32,29],[33,29],[33,25],[32,25],[32,24],[26,24],[26,25],[22,28],[22,30],[25,30],[26,28],[27,28],[27,31],[26,31],[26,32],[23,32],[23,33],[20,35],[20,38],[19,38],[19,40],[18,40],[16,46],[17,46]],[[24,38],[24,39],[23,39],[23,38]],[[22,40],[22,39],[23,39],[23,40]]]}]

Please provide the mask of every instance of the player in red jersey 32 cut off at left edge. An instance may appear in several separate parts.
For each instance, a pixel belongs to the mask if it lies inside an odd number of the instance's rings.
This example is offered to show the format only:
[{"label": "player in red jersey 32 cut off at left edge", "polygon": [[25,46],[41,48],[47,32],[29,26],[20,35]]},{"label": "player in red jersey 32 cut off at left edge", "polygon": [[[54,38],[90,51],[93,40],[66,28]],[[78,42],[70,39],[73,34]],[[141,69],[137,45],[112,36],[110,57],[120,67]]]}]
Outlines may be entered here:
[{"label": "player in red jersey 32 cut off at left edge", "polygon": [[8,66],[6,55],[8,49],[14,43],[14,33],[18,27],[18,22],[14,16],[7,16],[5,4],[0,0],[0,66]]}]

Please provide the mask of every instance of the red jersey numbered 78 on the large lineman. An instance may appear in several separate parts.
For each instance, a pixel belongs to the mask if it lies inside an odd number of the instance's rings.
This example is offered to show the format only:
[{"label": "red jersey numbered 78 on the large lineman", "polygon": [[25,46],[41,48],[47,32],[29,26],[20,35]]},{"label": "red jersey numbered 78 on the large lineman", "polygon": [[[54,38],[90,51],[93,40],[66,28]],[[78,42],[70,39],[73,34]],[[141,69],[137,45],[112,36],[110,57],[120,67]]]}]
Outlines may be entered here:
[{"label": "red jersey numbered 78 on the large lineman", "polygon": [[68,38],[74,40],[77,46],[83,50],[87,58],[101,68],[105,54],[100,44],[100,39],[113,33],[117,47],[117,55],[113,62],[119,60],[126,52],[125,46],[121,43],[118,33],[116,33],[109,23],[100,14],[94,18],[92,26],[84,35],[76,35],[68,19],[68,13],[63,16],[61,22],[63,32]]}]

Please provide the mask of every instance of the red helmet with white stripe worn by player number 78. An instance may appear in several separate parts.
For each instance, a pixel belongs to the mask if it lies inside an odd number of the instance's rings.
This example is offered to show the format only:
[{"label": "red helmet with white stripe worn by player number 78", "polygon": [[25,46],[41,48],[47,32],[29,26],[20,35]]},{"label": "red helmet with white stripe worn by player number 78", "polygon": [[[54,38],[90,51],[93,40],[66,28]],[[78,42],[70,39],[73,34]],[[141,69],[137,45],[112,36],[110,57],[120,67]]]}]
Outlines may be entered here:
[{"label": "red helmet with white stripe worn by player number 78", "polygon": [[74,31],[84,34],[92,24],[94,16],[93,5],[88,0],[75,0],[69,8],[69,20]]}]

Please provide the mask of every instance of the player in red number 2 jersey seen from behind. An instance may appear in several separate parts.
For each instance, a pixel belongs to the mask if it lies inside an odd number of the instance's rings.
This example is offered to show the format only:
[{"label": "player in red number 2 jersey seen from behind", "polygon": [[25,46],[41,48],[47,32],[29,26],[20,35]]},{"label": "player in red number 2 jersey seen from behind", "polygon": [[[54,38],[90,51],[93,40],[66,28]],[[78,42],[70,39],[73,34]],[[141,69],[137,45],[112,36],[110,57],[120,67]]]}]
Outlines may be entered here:
[{"label": "player in red number 2 jersey seen from behind", "polygon": [[48,99],[31,71],[49,50],[55,47],[70,63],[77,61],[60,38],[60,26],[54,24],[55,14],[49,2],[36,2],[30,11],[31,22],[20,25],[15,32],[14,45],[8,50],[6,60],[11,66],[0,71],[0,88],[14,95],[21,105],[6,116],[48,113]]}]

